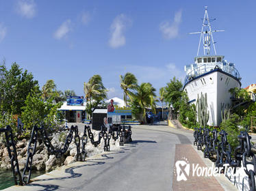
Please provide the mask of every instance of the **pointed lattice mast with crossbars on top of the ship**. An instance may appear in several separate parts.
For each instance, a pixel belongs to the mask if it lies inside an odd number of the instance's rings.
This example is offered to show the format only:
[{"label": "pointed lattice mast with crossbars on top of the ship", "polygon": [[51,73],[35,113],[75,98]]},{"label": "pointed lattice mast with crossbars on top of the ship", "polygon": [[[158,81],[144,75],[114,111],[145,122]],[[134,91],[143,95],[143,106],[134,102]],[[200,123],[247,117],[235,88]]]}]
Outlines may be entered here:
[{"label": "pointed lattice mast with crossbars on top of the ship", "polygon": [[[210,23],[214,20],[216,20],[216,18],[209,19],[208,12],[207,12],[207,6],[205,6],[205,16],[203,18],[203,26],[202,26],[201,32],[189,33],[189,34],[198,34],[198,33],[201,34],[200,35],[200,40],[199,40],[199,48],[197,49],[197,56],[199,56],[201,40],[203,40],[203,54],[204,55],[209,55],[210,47],[211,47],[211,39],[212,39],[212,44],[214,44],[214,53],[215,53],[215,55],[217,55],[216,48],[215,48],[215,43],[216,42],[214,42],[214,37],[213,37],[212,33],[222,32],[224,30],[214,30],[214,31],[212,31],[212,27],[211,27]],[[207,29],[205,31],[203,31],[204,28],[207,28]]]}]

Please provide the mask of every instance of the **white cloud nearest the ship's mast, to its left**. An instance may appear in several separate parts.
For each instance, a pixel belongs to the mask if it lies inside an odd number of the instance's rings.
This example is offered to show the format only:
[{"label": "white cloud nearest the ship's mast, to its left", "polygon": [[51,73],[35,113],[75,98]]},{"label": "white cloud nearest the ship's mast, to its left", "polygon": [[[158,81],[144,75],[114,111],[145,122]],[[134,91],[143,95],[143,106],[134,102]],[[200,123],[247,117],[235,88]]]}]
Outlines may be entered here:
[{"label": "white cloud nearest the ship's mast, to its left", "polygon": [[170,24],[169,21],[164,21],[160,24],[159,30],[162,31],[164,38],[177,38],[179,35],[179,25],[181,23],[182,10],[175,13],[174,21]]}]

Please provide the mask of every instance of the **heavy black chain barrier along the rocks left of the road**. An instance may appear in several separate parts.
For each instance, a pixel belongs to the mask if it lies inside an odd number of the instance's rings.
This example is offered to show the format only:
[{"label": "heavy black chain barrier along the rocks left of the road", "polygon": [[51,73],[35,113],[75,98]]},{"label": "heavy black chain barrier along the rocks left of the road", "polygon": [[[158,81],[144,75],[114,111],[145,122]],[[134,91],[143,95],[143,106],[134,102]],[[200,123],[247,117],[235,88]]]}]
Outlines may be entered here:
[{"label": "heavy black chain barrier along the rocks left of the road", "polygon": [[[86,133],[86,130],[88,134]],[[131,141],[131,126],[128,127],[128,130],[125,130],[125,126],[119,126],[118,131],[116,132],[112,130],[112,127],[110,127],[110,131],[107,132],[107,128],[105,126],[101,127],[101,132],[99,132],[99,138],[98,141],[94,141],[94,136],[90,130],[90,126],[84,127],[84,134],[80,138],[79,136],[79,130],[77,126],[71,126],[68,135],[66,136],[66,141],[64,143],[64,147],[62,149],[55,149],[53,145],[51,144],[51,141],[49,139],[49,136],[47,135],[47,131],[44,128],[44,126],[41,126],[38,128],[37,126],[34,126],[34,128],[31,131],[31,137],[29,139],[29,143],[27,146],[27,160],[25,163],[25,168],[23,169],[23,174],[21,175],[21,172],[19,170],[18,166],[18,158],[17,158],[17,151],[16,151],[16,143],[14,142],[14,137],[12,134],[12,128],[10,126],[7,126],[6,128],[0,128],[0,134],[5,133],[5,139],[7,143],[7,149],[8,149],[8,155],[11,159],[11,168],[12,168],[12,174],[14,177],[14,183],[16,185],[23,186],[27,183],[29,183],[31,178],[31,170],[32,170],[32,164],[33,164],[33,156],[36,153],[36,145],[38,143],[38,138],[42,139],[42,142],[47,147],[47,151],[51,155],[55,155],[56,158],[61,158],[64,153],[68,150],[69,145],[73,141],[77,147],[77,161],[85,161],[86,159],[86,144],[88,143],[88,138],[90,138],[90,142],[94,147],[97,147],[101,143],[101,138],[104,139],[104,151],[110,151],[110,139],[113,138],[114,141],[118,139],[118,136],[120,137],[120,145],[123,146],[124,137],[128,138],[129,141]],[[40,136],[38,136],[40,135]]]}]

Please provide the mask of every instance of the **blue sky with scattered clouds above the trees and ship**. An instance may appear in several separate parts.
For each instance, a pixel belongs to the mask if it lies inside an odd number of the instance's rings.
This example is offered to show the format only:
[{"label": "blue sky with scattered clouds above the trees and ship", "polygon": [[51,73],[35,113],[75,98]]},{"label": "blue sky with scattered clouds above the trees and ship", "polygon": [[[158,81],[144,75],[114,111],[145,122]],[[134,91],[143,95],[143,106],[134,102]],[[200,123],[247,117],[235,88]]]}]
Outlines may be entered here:
[{"label": "blue sky with scattered clouds above the trees and ship", "polygon": [[225,30],[214,33],[217,54],[235,63],[242,87],[256,83],[256,1],[0,0],[0,60],[77,95],[100,74],[109,97],[123,98],[125,72],[158,91],[194,61],[199,35],[188,33],[201,30],[205,5],[213,29]]}]

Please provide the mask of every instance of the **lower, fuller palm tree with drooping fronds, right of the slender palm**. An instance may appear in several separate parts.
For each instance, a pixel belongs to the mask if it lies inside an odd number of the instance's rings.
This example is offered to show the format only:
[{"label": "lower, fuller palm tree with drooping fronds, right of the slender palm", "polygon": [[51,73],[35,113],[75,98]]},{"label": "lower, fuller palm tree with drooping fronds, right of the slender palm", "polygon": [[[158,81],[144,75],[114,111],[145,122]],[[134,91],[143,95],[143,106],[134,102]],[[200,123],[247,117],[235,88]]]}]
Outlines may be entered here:
[{"label": "lower, fuller palm tree with drooping fronds, right of the slender palm", "polygon": [[142,83],[136,87],[136,93],[130,92],[132,100],[137,100],[140,108],[142,108],[144,121],[146,121],[146,107],[151,107],[155,113],[155,91],[156,89],[151,83]]}]

